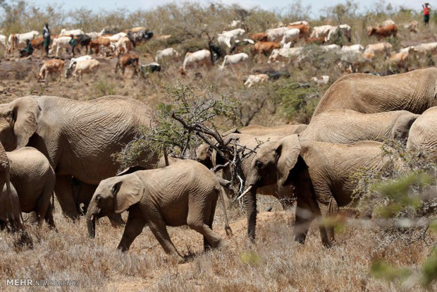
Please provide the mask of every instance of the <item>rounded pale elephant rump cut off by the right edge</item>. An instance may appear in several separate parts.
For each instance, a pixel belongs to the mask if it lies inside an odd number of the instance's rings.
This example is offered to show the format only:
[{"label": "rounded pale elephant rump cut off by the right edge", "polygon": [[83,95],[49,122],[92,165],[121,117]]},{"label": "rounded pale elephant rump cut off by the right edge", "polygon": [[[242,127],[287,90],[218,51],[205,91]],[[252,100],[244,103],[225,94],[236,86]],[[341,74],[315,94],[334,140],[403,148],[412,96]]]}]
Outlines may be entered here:
[{"label": "rounded pale elephant rump cut off by the right edge", "polygon": [[407,149],[437,161],[437,107],[427,109],[411,126]]}]

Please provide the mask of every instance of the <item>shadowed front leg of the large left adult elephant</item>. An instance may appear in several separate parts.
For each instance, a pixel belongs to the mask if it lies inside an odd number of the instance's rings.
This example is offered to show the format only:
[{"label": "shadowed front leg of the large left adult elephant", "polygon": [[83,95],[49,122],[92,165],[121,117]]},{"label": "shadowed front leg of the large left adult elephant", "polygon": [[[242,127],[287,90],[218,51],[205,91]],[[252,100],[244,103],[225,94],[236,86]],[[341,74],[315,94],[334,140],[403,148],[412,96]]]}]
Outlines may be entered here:
[{"label": "shadowed front leg of the large left adult elephant", "polygon": [[72,178],[70,176],[56,176],[55,194],[58,198],[59,205],[61,205],[63,214],[67,217],[75,219],[80,216],[78,206],[76,205],[73,188]]}]

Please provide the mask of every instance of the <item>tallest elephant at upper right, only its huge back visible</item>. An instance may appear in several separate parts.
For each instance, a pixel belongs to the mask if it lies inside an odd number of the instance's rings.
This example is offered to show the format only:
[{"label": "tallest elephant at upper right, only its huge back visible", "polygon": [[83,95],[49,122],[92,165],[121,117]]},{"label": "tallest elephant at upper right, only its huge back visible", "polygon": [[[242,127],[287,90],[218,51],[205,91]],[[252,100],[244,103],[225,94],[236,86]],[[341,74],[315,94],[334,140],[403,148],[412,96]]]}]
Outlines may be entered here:
[{"label": "tallest elephant at upper right, only its huge back visible", "polygon": [[384,77],[353,73],[329,87],[312,117],[331,109],[367,114],[405,109],[421,114],[434,106],[437,106],[435,67]]}]

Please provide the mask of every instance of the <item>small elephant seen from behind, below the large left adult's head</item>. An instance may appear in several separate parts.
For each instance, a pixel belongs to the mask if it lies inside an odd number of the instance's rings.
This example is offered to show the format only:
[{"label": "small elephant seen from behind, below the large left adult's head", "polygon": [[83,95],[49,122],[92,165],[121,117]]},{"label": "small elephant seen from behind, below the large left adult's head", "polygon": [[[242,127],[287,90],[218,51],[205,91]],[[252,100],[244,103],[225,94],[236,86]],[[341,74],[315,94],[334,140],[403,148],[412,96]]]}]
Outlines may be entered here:
[{"label": "small elephant seen from behind, below the large left adult's head", "polygon": [[47,221],[55,228],[51,197],[54,194],[56,176],[49,160],[32,147],[23,147],[7,152],[11,172],[11,182],[16,185],[21,212],[37,213],[37,220]]}]

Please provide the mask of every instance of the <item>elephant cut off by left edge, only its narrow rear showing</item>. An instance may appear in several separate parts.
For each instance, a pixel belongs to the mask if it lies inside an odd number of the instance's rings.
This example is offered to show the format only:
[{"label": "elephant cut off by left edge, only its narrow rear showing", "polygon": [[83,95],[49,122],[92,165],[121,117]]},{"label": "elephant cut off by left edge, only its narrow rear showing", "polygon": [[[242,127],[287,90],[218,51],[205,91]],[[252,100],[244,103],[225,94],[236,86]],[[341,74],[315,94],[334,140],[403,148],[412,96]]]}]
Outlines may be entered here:
[{"label": "elephant cut off by left edge, only its narrow rear showing", "polygon": [[3,145],[0,143],[0,228],[20,234],[18,244],[27,244],[32,248],[33,241],[25,231],[21,217],[20,201],[11,183],[10,165]]}]

